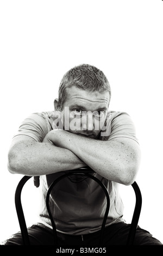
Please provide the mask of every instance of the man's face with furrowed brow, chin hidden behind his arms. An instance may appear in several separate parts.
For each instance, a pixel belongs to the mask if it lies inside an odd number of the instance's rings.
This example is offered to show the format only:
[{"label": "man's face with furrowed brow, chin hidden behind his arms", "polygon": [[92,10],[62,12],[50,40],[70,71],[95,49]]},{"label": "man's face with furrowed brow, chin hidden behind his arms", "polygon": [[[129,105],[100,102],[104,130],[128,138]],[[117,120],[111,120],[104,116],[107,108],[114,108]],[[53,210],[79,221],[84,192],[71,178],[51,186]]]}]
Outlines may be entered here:
[{"label": "man's face with furrowed brow, chin hidden behind his arms", "polygon": [[64,129],[96,138],[108,113],[109,92],[87,92],[72,86],[66,93],[66,100],[62,107]]}]

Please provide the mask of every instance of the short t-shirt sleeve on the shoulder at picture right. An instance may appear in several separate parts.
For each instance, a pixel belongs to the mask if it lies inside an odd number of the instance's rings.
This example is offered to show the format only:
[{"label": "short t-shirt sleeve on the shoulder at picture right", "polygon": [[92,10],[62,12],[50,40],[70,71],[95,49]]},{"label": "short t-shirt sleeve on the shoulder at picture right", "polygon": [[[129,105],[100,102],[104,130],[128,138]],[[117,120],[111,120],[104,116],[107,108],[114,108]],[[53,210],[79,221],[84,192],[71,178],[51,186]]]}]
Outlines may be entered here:
[{"label": "short t-shirt sleeve on the shoulder at picture right", "polygon": [[113,138],[126,137],[137,143],[136,130],[131,117],[126,112],[109,112],[106,118],[105,130],[101,132],[102,140],[110,141]]}]

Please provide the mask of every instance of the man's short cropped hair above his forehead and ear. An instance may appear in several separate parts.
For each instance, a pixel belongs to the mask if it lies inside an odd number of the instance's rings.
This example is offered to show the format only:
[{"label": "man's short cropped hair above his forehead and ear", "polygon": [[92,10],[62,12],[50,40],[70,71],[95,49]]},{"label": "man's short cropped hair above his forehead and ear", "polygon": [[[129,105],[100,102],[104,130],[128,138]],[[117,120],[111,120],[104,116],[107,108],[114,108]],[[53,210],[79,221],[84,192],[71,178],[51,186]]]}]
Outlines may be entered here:
[{"label": "man's short cropped hair above his forehead and ear", "polygon": [[60,108],[66,100],[66,89],[76,86],[88,92],[108,91],[111,97],[111,89],[108,79],[104,73],[95,66],[82,64],[74,66],[62,77],[58,90],[58,103]]}]

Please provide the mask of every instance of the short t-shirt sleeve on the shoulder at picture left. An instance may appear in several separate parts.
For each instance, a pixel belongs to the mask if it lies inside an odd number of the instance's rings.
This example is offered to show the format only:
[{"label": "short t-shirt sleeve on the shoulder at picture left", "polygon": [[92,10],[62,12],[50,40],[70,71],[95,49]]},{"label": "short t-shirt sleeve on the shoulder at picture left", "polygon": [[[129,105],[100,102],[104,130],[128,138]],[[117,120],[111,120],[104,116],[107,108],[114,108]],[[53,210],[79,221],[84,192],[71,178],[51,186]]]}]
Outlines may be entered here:
[{"label": "short t-shirt sleeve on the shoulder at picture left", "polygon": [[47,122],[43,115],[33,113],[22,121],[18,132],[14,137],[18,135],[26,135],[35,139],[37,142],[42,142],[48,131]]}]

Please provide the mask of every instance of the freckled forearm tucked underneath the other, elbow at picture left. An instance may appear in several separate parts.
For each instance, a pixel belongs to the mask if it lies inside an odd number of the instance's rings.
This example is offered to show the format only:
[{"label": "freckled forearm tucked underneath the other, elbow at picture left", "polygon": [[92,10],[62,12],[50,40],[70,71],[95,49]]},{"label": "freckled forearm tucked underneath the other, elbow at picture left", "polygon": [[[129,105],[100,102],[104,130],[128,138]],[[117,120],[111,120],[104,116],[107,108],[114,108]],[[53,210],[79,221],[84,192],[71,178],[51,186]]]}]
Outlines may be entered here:
[{"label": "freckled forearm tucked underneath the other, elbow at picture left", "polygon": [[72,151],[48,143],[22,141],[9,151],[11,173],[37,176],[83,166],[85,163]]}]

